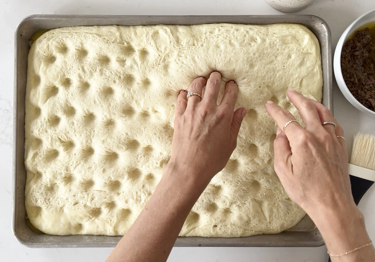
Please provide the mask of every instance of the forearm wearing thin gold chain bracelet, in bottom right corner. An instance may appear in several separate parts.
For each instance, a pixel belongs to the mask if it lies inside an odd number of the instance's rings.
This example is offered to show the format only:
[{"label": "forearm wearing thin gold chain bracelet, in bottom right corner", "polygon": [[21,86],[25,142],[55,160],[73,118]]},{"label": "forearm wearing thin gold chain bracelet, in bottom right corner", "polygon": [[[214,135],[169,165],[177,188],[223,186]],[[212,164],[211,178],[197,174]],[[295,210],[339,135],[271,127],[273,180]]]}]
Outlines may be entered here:
[{"label": "forearm wearing thin gold chain bracelet, in bottom right corner", "polygon": [[[356,207],[343,211],[330,209],[323,212],[324,215],[315,219],[315,224],[330,254],[343,254],[371,241],[366,232],[363,215]],[[374,246],[368,245],[339,257],[331,256],[331,260],[333,262],[375,261]]]}]

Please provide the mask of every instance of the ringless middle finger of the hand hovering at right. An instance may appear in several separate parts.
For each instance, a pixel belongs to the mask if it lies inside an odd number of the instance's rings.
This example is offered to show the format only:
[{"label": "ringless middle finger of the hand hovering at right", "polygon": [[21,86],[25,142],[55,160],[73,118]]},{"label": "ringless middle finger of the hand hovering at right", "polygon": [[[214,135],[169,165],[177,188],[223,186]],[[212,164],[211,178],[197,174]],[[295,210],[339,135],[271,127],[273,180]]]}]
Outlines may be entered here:
[{"label": "ringless middle finger of the hand hovering at right", "polygon": [[290,89],[287,92],[288,98],[298,109],[298,112],[305,123],[305,128],[309,131],[321,129],[322,123],[314,104],[296,90]]}]

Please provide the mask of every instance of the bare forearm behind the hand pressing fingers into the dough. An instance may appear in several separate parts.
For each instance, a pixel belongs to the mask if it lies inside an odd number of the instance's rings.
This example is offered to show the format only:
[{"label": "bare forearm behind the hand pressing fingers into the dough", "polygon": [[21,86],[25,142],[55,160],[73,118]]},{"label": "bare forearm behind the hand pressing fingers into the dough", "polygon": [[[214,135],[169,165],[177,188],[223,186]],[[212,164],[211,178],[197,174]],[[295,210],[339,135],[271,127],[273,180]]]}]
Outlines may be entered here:
[{"label": "bare forearm behind the hand pressing fingers into the dough", "polygon": [[107,262],[165,261],[204,189],[196,188],[193,177],[167,166],[152,197]]}]

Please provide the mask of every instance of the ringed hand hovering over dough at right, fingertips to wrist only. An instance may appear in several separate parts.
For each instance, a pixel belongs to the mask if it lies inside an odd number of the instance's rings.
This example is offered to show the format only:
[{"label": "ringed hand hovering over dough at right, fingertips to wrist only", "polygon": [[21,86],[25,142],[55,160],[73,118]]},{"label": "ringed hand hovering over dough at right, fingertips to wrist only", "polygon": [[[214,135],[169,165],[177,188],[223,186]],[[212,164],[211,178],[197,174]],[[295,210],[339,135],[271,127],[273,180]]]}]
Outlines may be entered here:
[{"label": "ringed hand hovering over dough at right, fingertips to wrist only", "polygon": [[[344,136],[329,109],[297,91],[288,90],[288,97],[299,110],[305,123],[291,122],[293,115],[272,101],[266,104],[267,112],[278,124],[274,142],[275,171],[291,200],[307,213],[332,209],[338,205],[354,208],[348,175],[348,158]],[[322,125],[323,122],[334,122]]]}]

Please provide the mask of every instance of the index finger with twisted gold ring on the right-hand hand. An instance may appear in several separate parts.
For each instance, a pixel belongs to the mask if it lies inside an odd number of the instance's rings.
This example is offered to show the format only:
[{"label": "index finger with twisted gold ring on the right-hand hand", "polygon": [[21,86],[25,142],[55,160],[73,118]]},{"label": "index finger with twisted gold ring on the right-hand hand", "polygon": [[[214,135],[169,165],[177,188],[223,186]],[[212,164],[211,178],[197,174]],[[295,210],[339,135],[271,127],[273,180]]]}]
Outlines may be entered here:
[{"label": "index finger with twisted gold ring on the right-hand hand", "polygon": [[[290,120],[296,120],[289,111],[284,110],[272,101],[267,101],[266,110],[280,128],[283,128]],[[289,141],[293,142],[294,135],[301,130],[303,130],[303,128],[298,122],[291,122],[285,128],[285,133],[287,134]]]}]

